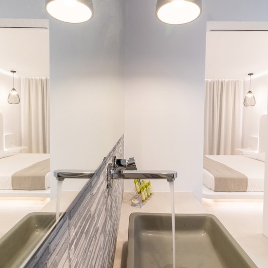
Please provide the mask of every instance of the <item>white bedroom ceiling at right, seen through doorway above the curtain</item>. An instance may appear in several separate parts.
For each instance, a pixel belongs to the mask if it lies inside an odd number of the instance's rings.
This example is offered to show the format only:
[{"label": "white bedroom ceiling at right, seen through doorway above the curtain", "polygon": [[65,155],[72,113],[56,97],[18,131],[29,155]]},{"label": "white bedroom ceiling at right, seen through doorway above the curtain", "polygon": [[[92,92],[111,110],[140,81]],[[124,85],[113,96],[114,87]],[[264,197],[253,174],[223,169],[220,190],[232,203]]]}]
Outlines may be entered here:
[{"label": "white bedroom ceiling at right, seen through doorway above the curtain", "polygon": [[268,31],[207,32],[206,79],[245,79],[267,71]]}]

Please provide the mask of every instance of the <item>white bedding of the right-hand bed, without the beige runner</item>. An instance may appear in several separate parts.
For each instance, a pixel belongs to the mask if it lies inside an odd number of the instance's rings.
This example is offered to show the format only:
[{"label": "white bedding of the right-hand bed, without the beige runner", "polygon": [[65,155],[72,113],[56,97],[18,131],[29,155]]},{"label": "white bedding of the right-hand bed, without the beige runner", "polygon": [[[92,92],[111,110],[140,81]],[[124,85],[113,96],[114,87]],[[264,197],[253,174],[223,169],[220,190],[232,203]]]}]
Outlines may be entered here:
[{"label": "white bedding of the right-hand bed, without the beige runner", "polygon": [[[261,192],[264,189],[265,163],[243,155],[206,155],[212,160],[221,162],[247,176],[247,192]],[[203,169],[203,184],[214,191],[214,176]]]}]

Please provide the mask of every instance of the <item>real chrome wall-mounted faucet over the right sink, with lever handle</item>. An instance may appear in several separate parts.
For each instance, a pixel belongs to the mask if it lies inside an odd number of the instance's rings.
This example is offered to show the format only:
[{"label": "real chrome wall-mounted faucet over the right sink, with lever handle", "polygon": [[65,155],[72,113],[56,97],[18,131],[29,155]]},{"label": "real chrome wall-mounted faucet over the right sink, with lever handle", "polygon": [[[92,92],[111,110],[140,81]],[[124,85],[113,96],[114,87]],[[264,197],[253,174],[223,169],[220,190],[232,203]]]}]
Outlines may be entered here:
[{"label": "real chrome wall-mounted faucet over the right sink, with lever handle", "polygon": [[177,171],[173,170],[137,170],[134,157],[126,159],[116,159],[113,156],[112,163],[107,168],[108,188],[112,188],[113,180],[134,180],[135,178],[151,178],[153,180],[165,179],[173,182],[177,177]]}]

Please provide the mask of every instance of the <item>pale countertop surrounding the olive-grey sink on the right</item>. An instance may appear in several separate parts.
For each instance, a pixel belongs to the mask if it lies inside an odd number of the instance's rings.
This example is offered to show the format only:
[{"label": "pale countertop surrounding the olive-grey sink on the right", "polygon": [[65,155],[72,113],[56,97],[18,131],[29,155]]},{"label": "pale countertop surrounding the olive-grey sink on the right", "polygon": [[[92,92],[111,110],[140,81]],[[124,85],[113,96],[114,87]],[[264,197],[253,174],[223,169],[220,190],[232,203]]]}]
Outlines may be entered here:
[{"label": "pale countertop surrounding the olive-grey sink on the right", "polygon": [[[141,208],[131,206],[133,196],[133,193],[124,193],[114,268],[126,267],[130,213],[170,213],[169,193],[155,193]],[[216,215],[256,265],[259,268],[268,268],[268,238],[261,233],[262,201],[214,202],[203,199],[202,206],[191,193],[175,193],[175,213]]]}]

